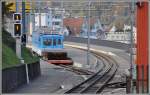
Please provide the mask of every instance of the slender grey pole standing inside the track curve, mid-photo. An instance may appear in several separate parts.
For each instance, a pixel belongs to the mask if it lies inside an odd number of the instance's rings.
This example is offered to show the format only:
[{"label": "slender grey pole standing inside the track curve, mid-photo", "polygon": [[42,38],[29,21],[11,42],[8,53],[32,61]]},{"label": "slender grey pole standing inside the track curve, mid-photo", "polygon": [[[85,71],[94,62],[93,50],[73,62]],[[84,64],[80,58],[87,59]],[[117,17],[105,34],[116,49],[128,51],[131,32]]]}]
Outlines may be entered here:
[{"label": "slender grey pole standing inside the track curve, mid-photo", "polygon": [[89,10],[88,10],[88,41],[87,41],[87,65],[90,65],[90,5],[91,1],[89,1]]}]

